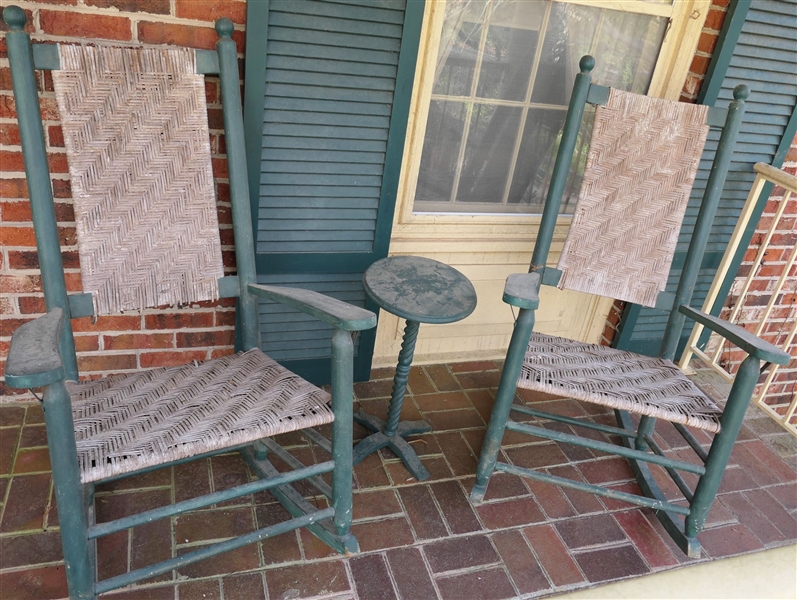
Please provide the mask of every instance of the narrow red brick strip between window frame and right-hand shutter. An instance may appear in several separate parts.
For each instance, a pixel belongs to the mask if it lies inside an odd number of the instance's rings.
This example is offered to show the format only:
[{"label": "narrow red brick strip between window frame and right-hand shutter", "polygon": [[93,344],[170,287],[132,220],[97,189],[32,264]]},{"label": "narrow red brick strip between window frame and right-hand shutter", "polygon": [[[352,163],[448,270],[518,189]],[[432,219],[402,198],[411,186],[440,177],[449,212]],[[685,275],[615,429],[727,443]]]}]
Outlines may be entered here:
[{"label": "narrow red brick strip between window frame and right-hand shutter", "polygon": [[[697,100],[714,48],[717,47],[720,29],[722,29],[722,24],[725,22],[725,15],[728,12],[730,3],[731,0],[712,0],[711,2],[706,21],[703,23],[703,30],[700,32],[700,39],[697,42],[695,56],[689,66],[689,72],[681,90],[681,102],[694,104]],[[612,345],[612,341],[617,335],[617,326],[620,323],[624,308],[625,302],[615,300],[609,315],[606,317],[606,325],[601,334],[601,344],[604,346]]]}]

